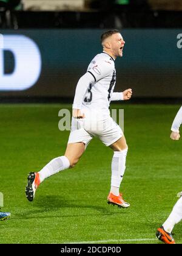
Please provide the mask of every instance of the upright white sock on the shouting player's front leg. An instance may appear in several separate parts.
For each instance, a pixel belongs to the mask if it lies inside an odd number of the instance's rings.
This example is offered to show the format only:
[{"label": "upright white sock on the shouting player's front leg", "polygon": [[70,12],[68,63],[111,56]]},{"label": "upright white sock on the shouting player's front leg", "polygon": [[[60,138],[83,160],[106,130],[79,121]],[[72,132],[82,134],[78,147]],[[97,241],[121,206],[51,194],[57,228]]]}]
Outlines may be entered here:
[{"label": "upright white sock on the shouting player's front leg", "polygon": [[112,158],[112,176],[110,192],[115,196],[120,194],[120,185],[126,169],[127,149],[115,151]]}]

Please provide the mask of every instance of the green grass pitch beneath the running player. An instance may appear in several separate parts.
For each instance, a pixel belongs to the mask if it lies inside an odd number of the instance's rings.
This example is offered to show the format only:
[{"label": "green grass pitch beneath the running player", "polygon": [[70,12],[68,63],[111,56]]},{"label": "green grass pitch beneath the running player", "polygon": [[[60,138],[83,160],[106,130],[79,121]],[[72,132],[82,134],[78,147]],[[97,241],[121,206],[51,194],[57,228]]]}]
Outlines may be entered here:
[{"label": "green grass pitch beneath the running player", "polygon": [[97,139],[74,169],[45,180],[28,202],[27,174],[64,154],[69,132],[59,131],[58,112],[70,106],[0,105],[2,210],[12,213],[0,222],[0,243],[160,243],[155,232],[182,190],[182,142],[169,139],[180,105],[112,105],[124,108],[129,153],[121,191],[130,208],[107,205],[113,153]]}]

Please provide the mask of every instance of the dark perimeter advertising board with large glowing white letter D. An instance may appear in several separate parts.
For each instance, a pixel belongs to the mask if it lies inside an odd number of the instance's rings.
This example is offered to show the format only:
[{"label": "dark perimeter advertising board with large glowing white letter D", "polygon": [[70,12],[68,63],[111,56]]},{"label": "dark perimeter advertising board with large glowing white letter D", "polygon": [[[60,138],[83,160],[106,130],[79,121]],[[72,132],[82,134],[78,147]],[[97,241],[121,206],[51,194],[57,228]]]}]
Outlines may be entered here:
[{"label": "dark perimeter advertising board with large glowing white letter D", "polygon": [[[103,30],[1,30],[0,97],[73,98],[79,77],[102,51]],[[116,91],[182,98],[182,30],[126,29]]]}]

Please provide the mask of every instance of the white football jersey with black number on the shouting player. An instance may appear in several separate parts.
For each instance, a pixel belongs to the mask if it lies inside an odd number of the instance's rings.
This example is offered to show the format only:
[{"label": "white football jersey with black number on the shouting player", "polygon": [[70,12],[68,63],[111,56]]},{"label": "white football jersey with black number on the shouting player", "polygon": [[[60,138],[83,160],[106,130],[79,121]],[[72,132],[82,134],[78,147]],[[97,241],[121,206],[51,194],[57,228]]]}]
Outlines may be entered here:
[{"label": "white football jersey with black number on the shouting player", "polygon": [[95,82],[89,85],[83,98],[83,110],[102,112],[110,115],[109,105],[116,84],[115,61],[109,54],[102,52],[90,62],[87,72]]}]

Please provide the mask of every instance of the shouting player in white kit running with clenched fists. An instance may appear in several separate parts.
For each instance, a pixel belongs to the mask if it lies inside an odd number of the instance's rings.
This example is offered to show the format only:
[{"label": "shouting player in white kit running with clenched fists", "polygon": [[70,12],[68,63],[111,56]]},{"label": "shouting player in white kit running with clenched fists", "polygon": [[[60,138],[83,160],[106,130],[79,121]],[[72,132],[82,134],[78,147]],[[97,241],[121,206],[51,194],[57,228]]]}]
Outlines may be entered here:
[{"label": "shouting player in white kit running with clenched fists", "polygon": [[103,52],[96,55],[76,86],[73,102],[72,129],[66,152],[54,158],[39,172],[30,172],[25,194],[33,201],[36,188],[47,177],[73,168],[93,137],[98,137],[113,150],[112,177],[108,204],[129,207],[120,193],[126,169],[127,144],[123,131],[110,117],[110,101],[129,100],[132,89],[114,93],[116,83],[115,59],[123,56],[125,41],[118,30],[101,35]]}]

